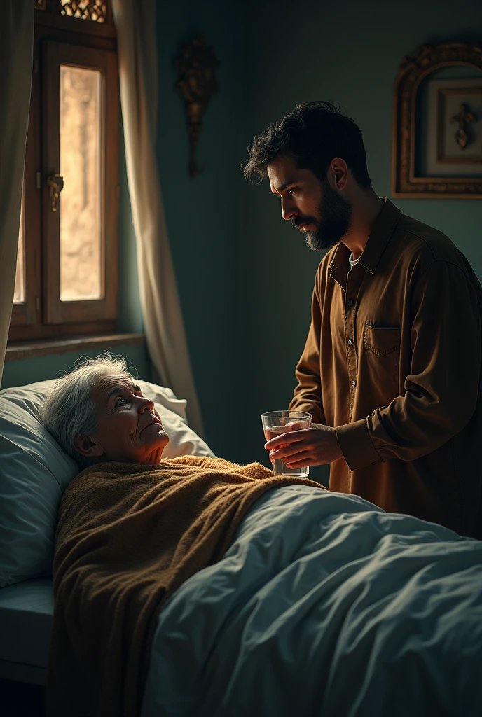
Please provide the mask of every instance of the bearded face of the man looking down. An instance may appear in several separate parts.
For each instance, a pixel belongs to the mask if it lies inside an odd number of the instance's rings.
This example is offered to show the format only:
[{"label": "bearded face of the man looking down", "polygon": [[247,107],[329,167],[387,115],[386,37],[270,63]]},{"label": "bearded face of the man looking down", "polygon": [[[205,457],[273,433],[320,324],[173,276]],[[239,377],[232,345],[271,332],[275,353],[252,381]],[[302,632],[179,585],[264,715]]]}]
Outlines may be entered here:
[{"label": "bearded face of the man looking down", "polygon": [[351,222],[351,203],[320,181],[311,169],[300,169],[290,156],[279,156],[268,165],[271,191],[281,197],[281,214],[306,235],[315,252],[331,249],[346,234]]}]

